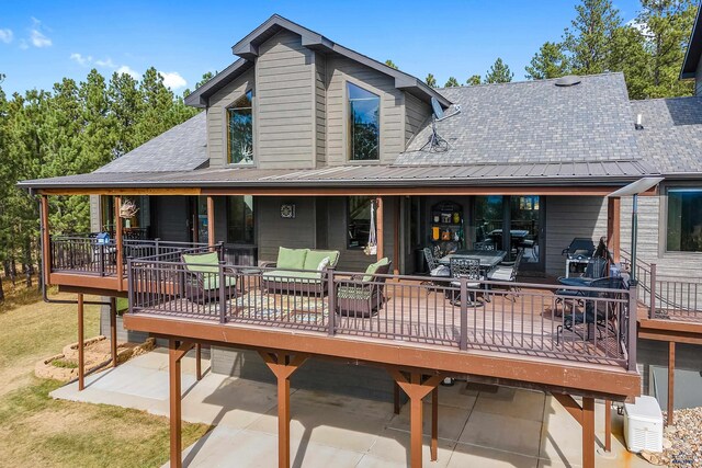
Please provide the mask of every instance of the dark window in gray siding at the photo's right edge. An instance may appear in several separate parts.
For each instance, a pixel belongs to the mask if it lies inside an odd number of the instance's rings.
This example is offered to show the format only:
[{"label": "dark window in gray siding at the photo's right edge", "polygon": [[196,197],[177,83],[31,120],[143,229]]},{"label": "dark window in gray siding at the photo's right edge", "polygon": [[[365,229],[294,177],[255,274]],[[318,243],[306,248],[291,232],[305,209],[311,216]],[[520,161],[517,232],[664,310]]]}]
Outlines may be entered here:
[{"label": "dark window in gray siding at the photo's right edge", "polygon": [[702,252],[702,189],[668,189],[670,252]]}]

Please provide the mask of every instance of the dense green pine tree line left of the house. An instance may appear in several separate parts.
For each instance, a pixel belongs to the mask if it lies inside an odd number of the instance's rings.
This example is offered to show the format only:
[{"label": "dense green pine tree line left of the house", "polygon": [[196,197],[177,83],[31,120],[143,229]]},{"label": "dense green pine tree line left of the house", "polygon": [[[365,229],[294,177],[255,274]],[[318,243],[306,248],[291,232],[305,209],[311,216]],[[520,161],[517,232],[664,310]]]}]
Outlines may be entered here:
[{"label": "dense green pine tree line left of the house", "polygon": [[[92,172],[197,110],[167,88],[155,68],[138,80],[114,73],[109,81],[93,69],[84,81],[64,78],[50,91],[11,96],[2,90],[3,78],[0,75],[0,264],[5,281],[21,274],[31,286],[39,258],[38,204],[16,182]],[[88,196],[52,196],[49,203],[52,233],[90,231]]]}]

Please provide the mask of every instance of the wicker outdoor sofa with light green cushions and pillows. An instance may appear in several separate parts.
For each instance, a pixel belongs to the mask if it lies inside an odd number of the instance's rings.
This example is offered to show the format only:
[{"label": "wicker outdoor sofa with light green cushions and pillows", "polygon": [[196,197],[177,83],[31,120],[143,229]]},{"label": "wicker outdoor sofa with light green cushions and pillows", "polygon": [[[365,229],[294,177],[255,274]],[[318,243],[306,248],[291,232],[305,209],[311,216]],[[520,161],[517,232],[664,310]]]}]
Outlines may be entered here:
[{"label": "wicker outdoor sofa with light green cushions and pillows", "polygon": [[281,247],[275,262],[261,266],[274,269],[263,273],[261,282],[269,293],[324,295],[326,271],[339,262],[338,250],[286,249]]}]

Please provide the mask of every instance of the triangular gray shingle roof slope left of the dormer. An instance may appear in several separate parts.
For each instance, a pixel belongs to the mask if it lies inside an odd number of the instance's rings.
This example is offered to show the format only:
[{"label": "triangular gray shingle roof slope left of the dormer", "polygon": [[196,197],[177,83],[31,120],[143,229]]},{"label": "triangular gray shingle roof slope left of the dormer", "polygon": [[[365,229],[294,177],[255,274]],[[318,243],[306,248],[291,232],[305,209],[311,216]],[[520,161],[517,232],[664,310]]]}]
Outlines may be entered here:
[{"label": "triangular gray shingle roof slope left of the dormer", "polygon": [[192,171],[207,163],[207,128],[201,112],[95,172]]}]

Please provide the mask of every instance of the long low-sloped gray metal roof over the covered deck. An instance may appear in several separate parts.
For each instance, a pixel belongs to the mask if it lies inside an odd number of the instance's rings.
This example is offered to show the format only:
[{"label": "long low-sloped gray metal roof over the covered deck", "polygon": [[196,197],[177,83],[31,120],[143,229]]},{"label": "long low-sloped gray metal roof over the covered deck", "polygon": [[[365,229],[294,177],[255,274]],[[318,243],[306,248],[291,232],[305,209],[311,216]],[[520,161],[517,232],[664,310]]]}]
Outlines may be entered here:
[{"label": "long low-sloped gray metal roof over the covered deck", "polygon": [[90,173],[24,181],[32,189],[94,187],[331,187],[613,185],[650,173],[641,161],[397,167],[338,165],[322,169],[200,169],[166,173]]}]

